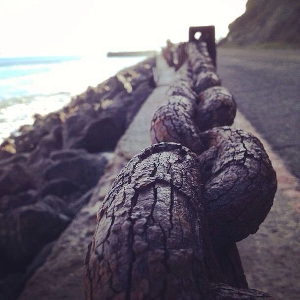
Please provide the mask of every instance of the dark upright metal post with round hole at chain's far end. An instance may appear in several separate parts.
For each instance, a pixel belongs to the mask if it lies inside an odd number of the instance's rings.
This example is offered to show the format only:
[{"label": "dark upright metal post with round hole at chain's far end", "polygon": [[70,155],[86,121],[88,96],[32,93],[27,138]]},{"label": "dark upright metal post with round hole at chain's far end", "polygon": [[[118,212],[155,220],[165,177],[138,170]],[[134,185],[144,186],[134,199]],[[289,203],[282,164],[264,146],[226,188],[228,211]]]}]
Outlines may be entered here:
[{"label": "dark upright metal post with round hole at chain's far end", "polygon": [[[197,32],[201,33],[199,39],[195,37]],[[217,68],[217,50],[215,44],[215,26],[195,26],[189,28],[189,41],[200,42],[203,41],[207,44],[208,53],[213,60],[214,66]]]}]

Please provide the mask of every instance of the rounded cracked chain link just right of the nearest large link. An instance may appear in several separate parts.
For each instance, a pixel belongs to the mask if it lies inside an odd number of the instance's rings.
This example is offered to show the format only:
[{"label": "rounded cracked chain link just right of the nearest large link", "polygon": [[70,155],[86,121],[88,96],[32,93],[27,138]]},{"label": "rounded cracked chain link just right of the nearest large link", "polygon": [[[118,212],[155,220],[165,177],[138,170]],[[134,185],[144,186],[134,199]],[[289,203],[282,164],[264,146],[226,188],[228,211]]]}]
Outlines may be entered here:
[{"label": "rounded cracked chain link just right of the nearest large link", "polygon": [[243,130],[215,127],[201,133],[205,207],[219,247],[255,233],[273,204],[276,174],[260,141]]}]

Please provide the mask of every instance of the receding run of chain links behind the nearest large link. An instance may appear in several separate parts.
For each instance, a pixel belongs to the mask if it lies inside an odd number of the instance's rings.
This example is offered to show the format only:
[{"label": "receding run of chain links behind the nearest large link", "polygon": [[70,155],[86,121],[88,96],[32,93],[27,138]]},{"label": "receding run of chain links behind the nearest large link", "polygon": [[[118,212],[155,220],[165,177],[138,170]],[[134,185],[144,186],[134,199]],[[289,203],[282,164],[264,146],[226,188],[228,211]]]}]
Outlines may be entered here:
[{"label": "receding run of chain links behind the nearest large link", "polygon": [[233,123],[236,103],[220,86],[205,43],[188,43],[187,52],[154,114],[151,140],[179,143],[198,155],[201,203],[213,243],[222,246],[257,231],[273,204],[276,176],[256,137],[225,126]]}]

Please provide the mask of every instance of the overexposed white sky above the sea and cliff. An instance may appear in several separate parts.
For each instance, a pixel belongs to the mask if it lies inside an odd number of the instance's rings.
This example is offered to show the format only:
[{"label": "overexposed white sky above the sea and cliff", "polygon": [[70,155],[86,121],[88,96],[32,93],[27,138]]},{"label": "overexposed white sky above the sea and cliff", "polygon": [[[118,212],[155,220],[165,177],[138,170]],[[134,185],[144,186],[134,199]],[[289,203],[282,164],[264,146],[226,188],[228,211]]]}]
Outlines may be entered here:
[{"label": "overexposed white sky above the sea and cliff", "polygon": [[247,0],[0,0],[0,56],[152,50],[215,25],[216,38]]}]

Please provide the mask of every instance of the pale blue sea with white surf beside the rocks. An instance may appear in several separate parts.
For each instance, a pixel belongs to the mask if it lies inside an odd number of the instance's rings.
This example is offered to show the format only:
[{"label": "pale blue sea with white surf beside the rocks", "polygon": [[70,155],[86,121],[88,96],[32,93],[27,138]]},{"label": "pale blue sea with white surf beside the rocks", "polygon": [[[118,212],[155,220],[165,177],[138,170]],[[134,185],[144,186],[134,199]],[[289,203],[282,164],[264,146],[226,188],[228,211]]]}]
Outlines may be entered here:
[{"label": "pale blue sea with white surf beside the rocks", "polygon": [[0,58],[0,142],[21,125],[32,124],[67,104],[71,96],[96,86],[145,57]]}]

